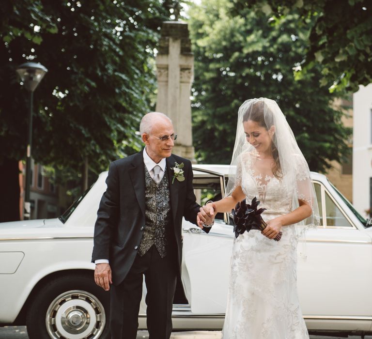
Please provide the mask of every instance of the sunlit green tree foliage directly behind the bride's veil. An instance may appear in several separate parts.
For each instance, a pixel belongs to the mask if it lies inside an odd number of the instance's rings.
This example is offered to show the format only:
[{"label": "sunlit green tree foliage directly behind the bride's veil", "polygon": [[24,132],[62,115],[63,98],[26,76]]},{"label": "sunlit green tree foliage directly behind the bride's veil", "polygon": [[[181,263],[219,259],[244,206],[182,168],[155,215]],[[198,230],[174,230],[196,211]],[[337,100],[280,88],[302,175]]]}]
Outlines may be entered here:
[{"label": "sunlit green tree foliage directly behind the bride's veil", "polygon": [[286,115],[310,169],[325,171],[329,160],[346,154],[351,131],[341,124],[341,111],[332,108],[334,95],[319,87],[318,67],[294,79],[308,48],[308,28],[298,27],[295,15],[268,20],[249,9],[232,15],[230,5],[208,0],[189,11],[198,161],[230,163],[239,106],[268,97]]}]

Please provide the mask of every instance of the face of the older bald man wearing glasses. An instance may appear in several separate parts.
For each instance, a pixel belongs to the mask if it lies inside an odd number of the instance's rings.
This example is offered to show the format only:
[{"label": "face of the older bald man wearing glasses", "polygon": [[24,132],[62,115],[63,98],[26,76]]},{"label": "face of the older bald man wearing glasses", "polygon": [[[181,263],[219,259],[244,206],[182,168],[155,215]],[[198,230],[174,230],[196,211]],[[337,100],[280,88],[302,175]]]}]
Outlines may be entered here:
[{"label": "face of the older bald man wearing glasses", "polygon": [[[168,137],[168,139],[165,139]],[[174,146],[174,130],[172,123],[166,118],[155,121],[150,134],[144,133],[142,140],[146,144],[146,151],[150,158],[158,163],[163,158],[171,156]],[[162,138],[165,140],[159,140]]]}]

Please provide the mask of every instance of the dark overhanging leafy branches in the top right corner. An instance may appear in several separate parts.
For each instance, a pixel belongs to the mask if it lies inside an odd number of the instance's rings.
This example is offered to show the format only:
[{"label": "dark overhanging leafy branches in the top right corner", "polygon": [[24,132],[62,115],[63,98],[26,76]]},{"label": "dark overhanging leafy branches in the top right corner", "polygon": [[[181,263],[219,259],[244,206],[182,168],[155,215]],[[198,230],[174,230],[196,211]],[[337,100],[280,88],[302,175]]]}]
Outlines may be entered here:
[{"label": "dark overhanging leafy branches in the top right corner", "polygon": [[310,46],[304,72],[322,66],[322,86],[353,92],[372,82],[372,3],[370,0],[234,0],[234,12],[245,8],[281,17],[297,13],[311,18]]}]

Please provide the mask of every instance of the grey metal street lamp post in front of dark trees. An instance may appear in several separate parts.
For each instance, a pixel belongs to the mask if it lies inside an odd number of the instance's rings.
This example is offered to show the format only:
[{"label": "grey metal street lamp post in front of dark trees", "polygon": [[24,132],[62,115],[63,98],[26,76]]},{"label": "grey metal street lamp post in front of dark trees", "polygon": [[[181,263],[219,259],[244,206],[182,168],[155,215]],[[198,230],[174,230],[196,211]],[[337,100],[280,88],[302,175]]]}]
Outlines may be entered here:
[{"label": "grey metal street lamp post in front of dark trees", "polygon": [[33,91],[47,73],[47,68],[42,64],[36,62],[26,62],[18,66],[16,72],[21,78],[26,90],[30,92],[29,104],[29,135],[27,143],[27,157],[26,157],[26,187],[23,218],[30,219],[31,215],[31,202],[30,202],[30,184],[31,184],[31,146],[32,146],[32,104],[33,104]]}]

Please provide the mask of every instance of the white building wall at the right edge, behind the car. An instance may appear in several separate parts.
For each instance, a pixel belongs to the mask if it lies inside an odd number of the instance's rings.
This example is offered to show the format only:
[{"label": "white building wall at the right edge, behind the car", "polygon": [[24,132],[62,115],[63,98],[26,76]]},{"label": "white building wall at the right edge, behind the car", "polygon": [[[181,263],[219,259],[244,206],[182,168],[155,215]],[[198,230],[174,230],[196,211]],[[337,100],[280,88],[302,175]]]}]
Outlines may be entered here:
[{"label": "white building wall at the right edge, behind the car", "polygon": [[362,215],[370,208],[372,178],[372,84],[353,95],[353,205]]}]

